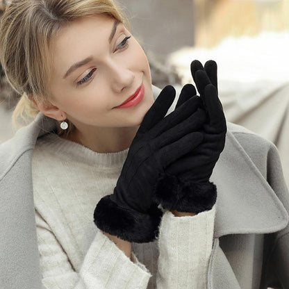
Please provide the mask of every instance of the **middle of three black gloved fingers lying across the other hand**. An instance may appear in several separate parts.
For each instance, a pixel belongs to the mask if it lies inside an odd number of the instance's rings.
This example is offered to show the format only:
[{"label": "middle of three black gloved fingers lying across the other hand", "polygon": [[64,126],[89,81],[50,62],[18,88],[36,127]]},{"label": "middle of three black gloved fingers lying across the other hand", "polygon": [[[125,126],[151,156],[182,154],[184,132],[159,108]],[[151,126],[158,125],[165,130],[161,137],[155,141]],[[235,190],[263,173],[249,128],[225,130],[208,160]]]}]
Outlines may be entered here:
[{"label": "middle of three black gloved fingers lying across the other hand", "polygon": [[165,131],[161,135],[158,135],[156,139],[153,140],[155,146],[159,149],[165,147],[166,145],[183,138],[184,135],[192,133],[193,131],[199,131],[206,120],[206,113],[201,108],[193,113],[190,117],[185,119],[183,122],[172,127],[168,131]]}]

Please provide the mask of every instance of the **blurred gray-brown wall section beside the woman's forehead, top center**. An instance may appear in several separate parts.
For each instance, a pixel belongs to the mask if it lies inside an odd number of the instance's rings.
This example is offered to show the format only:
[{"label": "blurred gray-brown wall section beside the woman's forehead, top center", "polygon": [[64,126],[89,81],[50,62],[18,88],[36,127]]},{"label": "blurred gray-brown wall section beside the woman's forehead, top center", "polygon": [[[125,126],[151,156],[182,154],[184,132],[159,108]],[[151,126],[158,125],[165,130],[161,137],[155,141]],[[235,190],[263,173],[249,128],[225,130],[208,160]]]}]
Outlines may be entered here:
[{"label": "blurred gray-brown wall section beside the woman's forehead, top center", "polygon": [[193,0],[117,0],[145,51],[164,58],[194,44]]}]

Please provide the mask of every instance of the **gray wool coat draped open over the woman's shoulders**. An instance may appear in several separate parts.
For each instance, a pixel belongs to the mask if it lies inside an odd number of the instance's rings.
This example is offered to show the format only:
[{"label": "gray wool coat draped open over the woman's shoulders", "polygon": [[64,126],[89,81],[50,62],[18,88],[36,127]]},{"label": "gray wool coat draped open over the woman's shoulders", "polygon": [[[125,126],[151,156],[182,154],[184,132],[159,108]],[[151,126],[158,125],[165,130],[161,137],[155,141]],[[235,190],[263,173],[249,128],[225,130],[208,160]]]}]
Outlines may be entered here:
[{"label": "gray wool coat draped open over the woman's shoulders", "polygon": [[[159,91],[154,87],[155,97]],[[42,287],[31,158],[38,136],[53,125],[40,113],[0,145],[1,289]],[[217,185],[217,210],[208,288],[288,289],[289,193],[276,147],[228,123],[211,181]]]}]

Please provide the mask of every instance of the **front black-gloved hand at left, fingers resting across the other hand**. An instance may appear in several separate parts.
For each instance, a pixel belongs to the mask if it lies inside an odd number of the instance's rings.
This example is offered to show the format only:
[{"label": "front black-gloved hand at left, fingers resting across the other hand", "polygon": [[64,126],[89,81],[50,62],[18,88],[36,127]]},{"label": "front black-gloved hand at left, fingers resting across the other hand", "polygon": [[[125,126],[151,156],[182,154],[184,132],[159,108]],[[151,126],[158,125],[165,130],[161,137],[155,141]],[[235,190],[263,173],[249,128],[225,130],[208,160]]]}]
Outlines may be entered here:
[{"label": "front black-gloved hand at left, fingers resting across the other hand", "polygon": [[162,211],[152,201],[158,174],[203,140],[197,132],[205,120],[199,97],[164,117],[175,94],[170,85],[160,92],[131,143],[113,194],[97,204],[94,223],[102,231],[130,242],[150,242],[158,236]]}]

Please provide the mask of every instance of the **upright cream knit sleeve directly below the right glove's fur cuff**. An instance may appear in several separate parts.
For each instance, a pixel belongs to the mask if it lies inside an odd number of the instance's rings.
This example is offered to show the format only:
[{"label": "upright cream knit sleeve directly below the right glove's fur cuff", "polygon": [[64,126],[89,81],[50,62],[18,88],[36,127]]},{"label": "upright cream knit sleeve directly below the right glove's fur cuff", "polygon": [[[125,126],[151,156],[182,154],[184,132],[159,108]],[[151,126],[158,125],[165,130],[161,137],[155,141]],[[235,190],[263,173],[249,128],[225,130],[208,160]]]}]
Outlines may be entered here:
[{"label": "upright cream knit sleeve directly below the right glove's fur cuff", "polygon": [[214,220],[215,206],[194,216],[164,213],[158,239],[158,289],[206,288]]}]

